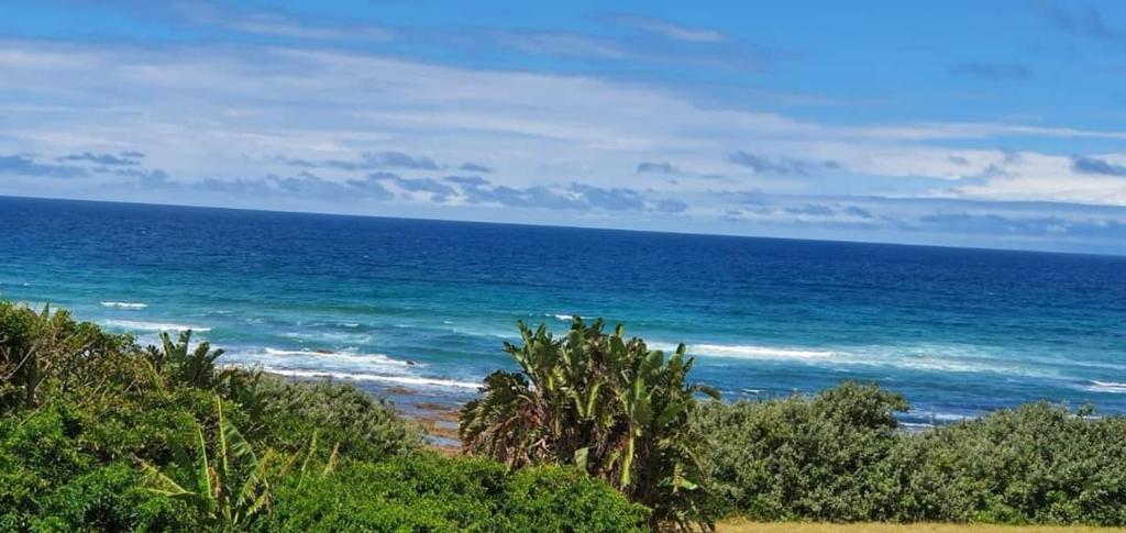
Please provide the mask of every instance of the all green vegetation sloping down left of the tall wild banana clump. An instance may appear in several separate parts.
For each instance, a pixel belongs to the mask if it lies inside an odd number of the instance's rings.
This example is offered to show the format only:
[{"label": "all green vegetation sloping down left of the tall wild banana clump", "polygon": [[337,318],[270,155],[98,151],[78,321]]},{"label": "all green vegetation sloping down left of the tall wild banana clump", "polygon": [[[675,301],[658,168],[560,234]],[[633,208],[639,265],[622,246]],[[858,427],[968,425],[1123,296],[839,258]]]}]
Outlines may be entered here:
[{"label": "all green vegetation sloping down left of the tall wild banana clump", "polygon": [[446,458],[350,386],[0,302],[0,531],[640,531],[574,468]]}]

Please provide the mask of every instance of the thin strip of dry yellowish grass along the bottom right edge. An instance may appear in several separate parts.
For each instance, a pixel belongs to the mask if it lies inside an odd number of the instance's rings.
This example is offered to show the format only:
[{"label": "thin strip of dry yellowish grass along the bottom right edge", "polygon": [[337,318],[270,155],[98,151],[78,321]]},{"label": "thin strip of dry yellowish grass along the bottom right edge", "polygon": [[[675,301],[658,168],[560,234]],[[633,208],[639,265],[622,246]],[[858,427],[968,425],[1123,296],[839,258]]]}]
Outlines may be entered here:
[{"label": "thin strip of dry yellowish grass along the bottom right edge", "polygon": [[816,524],[726,521],[717,525],[721,533],[1107,533],[1126,531],[1120,527],[980,525],[980,524]]}]

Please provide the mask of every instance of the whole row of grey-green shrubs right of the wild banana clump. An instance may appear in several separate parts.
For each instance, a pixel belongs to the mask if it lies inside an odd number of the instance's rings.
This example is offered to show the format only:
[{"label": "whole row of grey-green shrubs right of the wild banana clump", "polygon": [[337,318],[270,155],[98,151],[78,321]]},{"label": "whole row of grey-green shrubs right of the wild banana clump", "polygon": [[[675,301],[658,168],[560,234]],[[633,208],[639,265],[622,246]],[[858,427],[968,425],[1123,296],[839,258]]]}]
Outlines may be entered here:
[{"label": "whole row of grey-green shrubs right of the wild banana clump", "polygon": [[1028,405],[897,431],[902,397],[846,382],[813,397],[708,405],[717,514],[754,520],[1126,524],[1126,418]]}]

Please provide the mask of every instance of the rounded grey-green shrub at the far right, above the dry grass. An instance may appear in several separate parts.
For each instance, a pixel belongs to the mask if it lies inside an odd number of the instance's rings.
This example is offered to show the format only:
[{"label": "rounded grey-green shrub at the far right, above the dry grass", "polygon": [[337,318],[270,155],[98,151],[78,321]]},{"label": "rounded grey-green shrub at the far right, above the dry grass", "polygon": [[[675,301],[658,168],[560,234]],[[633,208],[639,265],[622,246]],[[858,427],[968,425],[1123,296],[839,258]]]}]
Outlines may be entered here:
[{"label": "rounded grey-green shrub at the far right, above the dry grass", "polygon": [[1025,405],[901,440],[897,518],[1126,524],[1126,418]]}]

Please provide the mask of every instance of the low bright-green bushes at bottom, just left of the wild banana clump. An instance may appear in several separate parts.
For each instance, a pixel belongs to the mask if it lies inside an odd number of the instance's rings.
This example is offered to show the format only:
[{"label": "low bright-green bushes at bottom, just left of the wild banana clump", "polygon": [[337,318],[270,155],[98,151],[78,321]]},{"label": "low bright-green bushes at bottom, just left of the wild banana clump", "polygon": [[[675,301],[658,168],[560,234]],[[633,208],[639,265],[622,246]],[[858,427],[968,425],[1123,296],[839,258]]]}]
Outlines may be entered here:
[{"label": "low bright-green bushes at bottom, just left of the wild banana clump", "polygon": [[517,473],[432,454],[348,462],[330,476],[276,489],[278,531],[641,531],[647,512],[574,470]]}]

